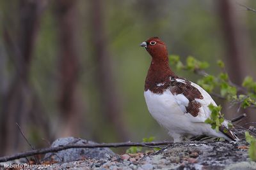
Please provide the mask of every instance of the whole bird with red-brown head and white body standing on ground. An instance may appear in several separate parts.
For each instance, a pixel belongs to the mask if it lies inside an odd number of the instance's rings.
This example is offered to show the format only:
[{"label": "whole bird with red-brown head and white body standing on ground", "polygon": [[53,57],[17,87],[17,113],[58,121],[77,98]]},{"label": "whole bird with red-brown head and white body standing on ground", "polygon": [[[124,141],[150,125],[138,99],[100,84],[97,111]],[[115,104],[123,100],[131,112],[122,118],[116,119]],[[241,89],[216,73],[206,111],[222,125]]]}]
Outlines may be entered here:
[{"label": "whole bird with red-brown head and white body standing on ground", "polygon": [[144,97],[152,117],[168,130],[173,142],[181,142],[195,136],[211,136],[228,141],[239,141],[228,120],[220,131],[211,128],[205,120],[211,116],[209,104],[217,106],[202,87],[173,73],[169,66],[168,50],[158,37],[143,41],[152,60],[145,80]]}]

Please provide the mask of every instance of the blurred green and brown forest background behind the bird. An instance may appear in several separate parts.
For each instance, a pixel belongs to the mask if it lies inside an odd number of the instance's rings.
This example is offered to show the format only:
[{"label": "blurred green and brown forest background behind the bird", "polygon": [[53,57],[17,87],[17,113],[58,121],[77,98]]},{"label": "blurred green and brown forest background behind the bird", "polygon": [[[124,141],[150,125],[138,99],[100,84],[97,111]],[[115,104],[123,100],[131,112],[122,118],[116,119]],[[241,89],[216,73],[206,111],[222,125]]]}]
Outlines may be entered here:
[{"label": "blurred green and brown forest background behind the bird", "polygon": [[[221,59],[235,83],[256,78],[256,13],[237,3],[256,8],[253,0],[0,1],[0,155],[29,149],[16,123],[36,148],[65,136],[170,140],[144,101],[150,55],[139,45],[159,36],[181,60],[209,62],[208,73]],[[225,117],[241,114],[216,101]]]}]

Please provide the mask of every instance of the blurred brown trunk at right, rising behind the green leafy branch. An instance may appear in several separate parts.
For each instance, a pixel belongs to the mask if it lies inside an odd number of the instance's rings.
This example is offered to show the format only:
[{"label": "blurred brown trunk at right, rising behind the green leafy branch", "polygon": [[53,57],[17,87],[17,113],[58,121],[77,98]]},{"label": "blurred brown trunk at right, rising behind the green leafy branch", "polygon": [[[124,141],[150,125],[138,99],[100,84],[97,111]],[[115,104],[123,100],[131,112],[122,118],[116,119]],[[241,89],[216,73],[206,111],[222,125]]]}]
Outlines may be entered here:
[{"label": "blurred brown trunk at right, rising behind the green leafy branch", "polygon": [[[226,45],[224,60],[227,66],[227,72],[231,81],[241,85],[245,76],[253,76],[254,67],[250,64],[252,49],[248,39],[246,25],[243,22],[245,12],[241,12],[239,8],[241,8],[241,6],[239,6],[236,1],[218,1],[221,27]],[[243,113],[244,110],[241,110],[241,112]],[[228,108],[225,113],[228,118],[234,118],[236,117],[237,110],[236,108]],[[245,113],[250,113],[250,110],[246,110]],[[253,116],[255,114],[250,115]],[[253,119],[255,120],[255,116]]]}]

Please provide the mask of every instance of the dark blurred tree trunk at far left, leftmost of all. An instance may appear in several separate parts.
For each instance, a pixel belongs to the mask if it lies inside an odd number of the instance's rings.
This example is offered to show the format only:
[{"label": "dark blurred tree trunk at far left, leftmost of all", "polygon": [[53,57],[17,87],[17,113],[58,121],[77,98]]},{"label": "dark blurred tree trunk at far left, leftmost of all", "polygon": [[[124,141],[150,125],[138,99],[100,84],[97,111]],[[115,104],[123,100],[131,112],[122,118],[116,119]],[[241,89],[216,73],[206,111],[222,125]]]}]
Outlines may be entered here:
[{"label": "dark blurred tree trunk at far left, leftmost of all", "polygon": [[12,34],[8,32],[12,29],[6,29],[4,32],[5,45],[15,65],[15,76],[3,97],[0,133],[2,154],[17,152],[24,142],[15,123],[21,126],[26,124],[28,113],[31,111],[29,69],[42,14],[42,3],[40,0],[20,0],[19,11],[15,16],[19,20],[19,26]]}]

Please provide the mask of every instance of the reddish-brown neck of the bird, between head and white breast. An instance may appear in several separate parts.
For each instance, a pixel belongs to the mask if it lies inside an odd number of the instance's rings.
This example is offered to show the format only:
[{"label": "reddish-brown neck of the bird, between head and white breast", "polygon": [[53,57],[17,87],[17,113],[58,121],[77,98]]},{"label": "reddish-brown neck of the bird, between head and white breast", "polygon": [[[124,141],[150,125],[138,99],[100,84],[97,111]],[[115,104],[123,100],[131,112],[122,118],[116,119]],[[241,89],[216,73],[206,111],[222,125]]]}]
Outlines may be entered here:
[{"label": "reddish-brown neck of the bird, between head and white breast", "polygon": [[164,90],[163,88],[168,87],[170,76],[175,76],[175,74],[170,69],[168,57],[152,57],[144,90],[149,89],[152,92],[161,93]]}]

